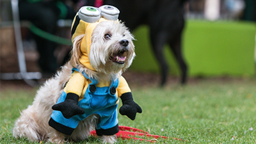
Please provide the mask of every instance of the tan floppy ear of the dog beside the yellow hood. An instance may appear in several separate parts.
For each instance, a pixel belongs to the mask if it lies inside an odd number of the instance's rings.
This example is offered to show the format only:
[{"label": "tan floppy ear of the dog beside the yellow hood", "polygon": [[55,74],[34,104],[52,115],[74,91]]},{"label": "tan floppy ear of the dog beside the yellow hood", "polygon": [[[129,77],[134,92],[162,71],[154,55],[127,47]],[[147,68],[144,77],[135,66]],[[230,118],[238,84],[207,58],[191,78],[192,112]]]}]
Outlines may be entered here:
[{"label": "tan floppy ear of the dog beside the yellow hood", "polygon": [[79,35],[79,36],[76,36],[76,38],[74,38],[73,40],[73,49],[71,51],[71,60],[70,60],[73,67],[77,67],[77,65],[79,65],[80,63],[79,60],[82,56],[80,45],[83,40],[83,37],[84,35]]}]

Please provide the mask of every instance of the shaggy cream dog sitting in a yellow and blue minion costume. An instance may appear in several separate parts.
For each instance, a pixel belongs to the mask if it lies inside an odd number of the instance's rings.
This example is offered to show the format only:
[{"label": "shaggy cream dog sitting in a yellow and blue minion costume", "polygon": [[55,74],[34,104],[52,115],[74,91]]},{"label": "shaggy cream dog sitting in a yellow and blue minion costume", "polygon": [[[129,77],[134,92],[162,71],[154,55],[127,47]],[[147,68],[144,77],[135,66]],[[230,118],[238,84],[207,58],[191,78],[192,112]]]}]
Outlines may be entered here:
[{"label": "shaggy cream dog sitting in a yellow and blue minion costume", "polygon": [[142,110],[121,76],[134,59],[134,40],[114,6],[83,6],[72,24],[70,61],[45,81],[31,106],[15,121],[13,136],[30,141],[84,140],[95,129],[114,143],[121,115],[134,120]]}]

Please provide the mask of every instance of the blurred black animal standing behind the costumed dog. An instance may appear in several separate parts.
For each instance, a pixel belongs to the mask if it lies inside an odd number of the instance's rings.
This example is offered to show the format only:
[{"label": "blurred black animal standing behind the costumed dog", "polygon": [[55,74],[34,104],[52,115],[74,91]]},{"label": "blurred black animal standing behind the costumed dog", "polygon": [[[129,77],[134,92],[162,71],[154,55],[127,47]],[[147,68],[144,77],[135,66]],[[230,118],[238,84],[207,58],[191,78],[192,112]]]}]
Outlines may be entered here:
[{"label": "blurred black animal standing behind the costumed dog", "polygon": [[104,0],[104,4],[116,6],[120,10],[119,19],[134,30],[141,24],[150,29],[150,42],[161,67],[161,86],[166,83],[168,65],[164,59],[164,45],[170,48],[177,59],[182,76],[187,80],[187,65],[182,57],[182,30],[184,28],[184,2],[186,0]]}]

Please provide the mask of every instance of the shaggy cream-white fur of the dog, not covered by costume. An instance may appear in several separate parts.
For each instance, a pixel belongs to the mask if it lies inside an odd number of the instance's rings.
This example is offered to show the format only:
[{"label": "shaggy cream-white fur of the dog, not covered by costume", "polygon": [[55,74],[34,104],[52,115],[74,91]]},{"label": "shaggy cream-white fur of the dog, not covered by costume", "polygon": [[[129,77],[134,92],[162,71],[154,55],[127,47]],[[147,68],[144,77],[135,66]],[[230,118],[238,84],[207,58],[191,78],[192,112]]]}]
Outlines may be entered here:
[{"label": "shaggy cream-white fur of the dog, not covered by costume", "polygon": [[[104,35],[109,33],[111,39],[104,39]],[[90,64],[95,68],[96,72],[90,70],[81,63],[81,51],[79,45],[83,35],[74,39],[71,60],[64,65],[57,74],[45,81],[36,93],[36,97],[31,106],[24,109],[20,113],[20,117],[16,120],[13,127],[13,136],[15,138],[28,138],[30,141],[49,141],[52,143],[63,143],[65,141],[84,140],[90,135],[90,131],[95,128],[99,119],[98,115],[88,116],[85,120],[79,122],[71,136],[66,136],[49,126],[48,122],[51,118],[52,106],[56,104],[65,84],[71,76],[71,69],[79,65],[80,70],[84,70],[89,77],[98,79],[99,81],[111,81],[116,79],[126,68],[128,68],[135,56],[134,45],[132,44],[133,36],[124,24],[119,22],[100,22],[94,29],[92,34],[92,44],[90,51]],[[124,64],[119,64],[111,60],[116,52],[122,49],[120,40],[128,40],[126,52],[127,57]],[[115,136],[102,136],[103,143],[114,143]]]}]

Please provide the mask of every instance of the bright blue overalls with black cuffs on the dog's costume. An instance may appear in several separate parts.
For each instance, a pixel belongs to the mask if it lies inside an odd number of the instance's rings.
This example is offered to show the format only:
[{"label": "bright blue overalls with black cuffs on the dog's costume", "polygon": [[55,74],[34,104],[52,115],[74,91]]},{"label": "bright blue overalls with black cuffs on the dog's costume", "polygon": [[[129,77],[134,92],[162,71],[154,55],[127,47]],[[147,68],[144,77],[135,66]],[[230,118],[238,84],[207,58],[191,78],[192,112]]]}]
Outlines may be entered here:
[{"label": "bright blue overalls with black cuffs on the dog's costume", "polygon": [[[72,72],[77,68],[73,68]],[[82,72],[86,79],[89,79],[85,72]],[[71,118],[65,118],[61,111],[54,110],[51,115],[49,125],[64,134],[71,135],[74,129],[76,129],[78,123],[92,114],[98,114],[100,116],[99,123],[96,127],[96,132],[99,136],[113,135],[118,132],[118,119],[117,119],[117,107],[116,104],[116,88],[119,84],[119,79],[111,82],[111,85],[105,87],[96,87],[99,83],[96,79],[90,79],[92,83],[88,85],[84,98],[78,102],[78,105],[84,109],[83,115],[75,115]],[[61,93],[58,103],[63,102],[67,97],[67,93]],[[109,131],[108,131],[109,130]]]}]

